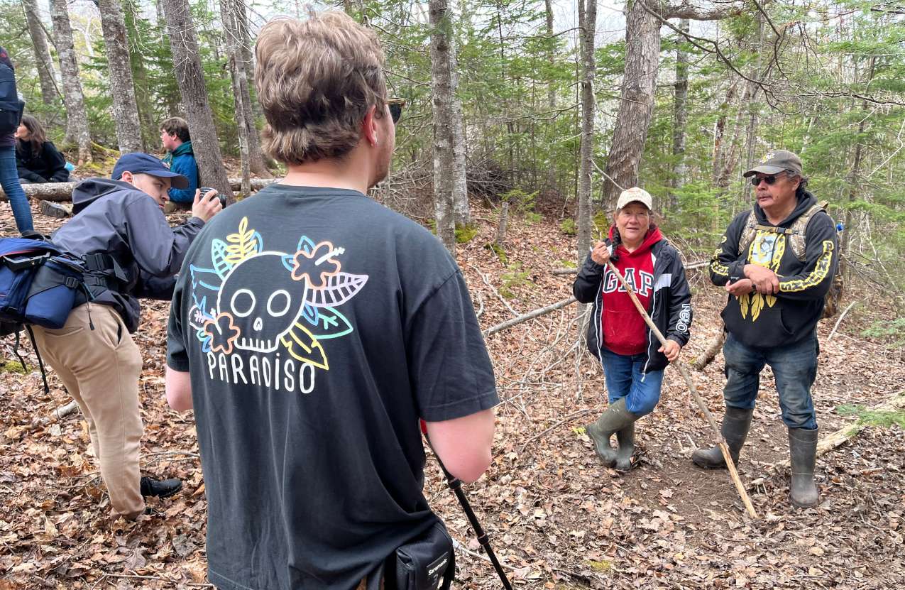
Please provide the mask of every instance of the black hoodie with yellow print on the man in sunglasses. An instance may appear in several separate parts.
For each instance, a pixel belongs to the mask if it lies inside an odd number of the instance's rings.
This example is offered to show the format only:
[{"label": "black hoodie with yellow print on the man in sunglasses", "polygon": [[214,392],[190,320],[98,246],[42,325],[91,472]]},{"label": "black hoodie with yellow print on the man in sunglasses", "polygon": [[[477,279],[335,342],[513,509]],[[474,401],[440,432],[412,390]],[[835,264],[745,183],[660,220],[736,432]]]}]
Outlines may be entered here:
[{"label": "black hoodie with yellow print on the man in sunglasses", "polygon": [[[817,199],[807,191],[784,221],[773,225],[759,205],[754,205],[757,223],[791,228]],[[805,261],[798,260],[786,235],[759,232],[746,252],[738,254],[749,211],[736,215],[723,234],[710,261],[710,281],[722,287],[730,279],[745,277],[744,267],[759,262],[779,277],[776,295],[750,293],[740,298],[729,295],[722,311],[726,329],[749,347],[778,347],[793,344],[814,333],[824,311],[824,297],[833,283],[839,254],[833,219],[824,212],[814,214],[805,230]],[[774,236],[776,240],[774,242]],[[765,239],[766,238],[766,239]]]}]

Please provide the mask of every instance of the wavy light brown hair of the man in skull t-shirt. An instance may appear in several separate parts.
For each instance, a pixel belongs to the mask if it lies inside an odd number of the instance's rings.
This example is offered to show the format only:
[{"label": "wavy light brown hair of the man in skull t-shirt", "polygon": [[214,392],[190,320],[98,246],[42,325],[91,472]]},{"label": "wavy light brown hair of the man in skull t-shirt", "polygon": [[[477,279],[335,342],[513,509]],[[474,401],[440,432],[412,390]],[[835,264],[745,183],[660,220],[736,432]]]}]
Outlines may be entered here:
[{"label": "wavy light brown hair of the man in skull t-shirt", "polygon": [[[262,148],[284,164],[341,158],[356,147],[367,109],[386,103],[384,52],[347,14],[265,24],[255,88],[267,124]],[[376,110],[383,116],[384,109]]]}]

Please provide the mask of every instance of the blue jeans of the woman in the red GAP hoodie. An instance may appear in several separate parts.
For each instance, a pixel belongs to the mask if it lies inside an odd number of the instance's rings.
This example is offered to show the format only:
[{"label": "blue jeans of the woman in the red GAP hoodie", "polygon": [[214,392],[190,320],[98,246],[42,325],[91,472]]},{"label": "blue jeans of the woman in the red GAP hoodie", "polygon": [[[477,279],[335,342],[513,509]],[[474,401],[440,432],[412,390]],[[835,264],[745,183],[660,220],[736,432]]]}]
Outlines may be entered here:
[{"label": "blue jeans of the woman in the red GAP hoodie", "polygon": [[610,404],[624,397],[625,409],[632,414],[640,417],[653,412],[654,406],[660,401],[663,372],[642,373],[646,355],[617,355],[602,348],[600,359],[604,366]]}]

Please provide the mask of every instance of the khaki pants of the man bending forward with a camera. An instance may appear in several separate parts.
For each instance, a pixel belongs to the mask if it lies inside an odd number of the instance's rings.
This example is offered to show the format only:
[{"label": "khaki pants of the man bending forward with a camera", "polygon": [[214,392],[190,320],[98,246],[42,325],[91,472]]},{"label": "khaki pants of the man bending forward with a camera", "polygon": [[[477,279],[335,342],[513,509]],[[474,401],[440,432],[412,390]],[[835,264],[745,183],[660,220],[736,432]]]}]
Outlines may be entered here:
[{"label": "khaki pants of the man bending forward with a camera", "polygon": [[110,505],[134,519],[145,509],[138,484],[141,353],[114,309],[91,304],[93,330],[88,311],[88,304],[72,309],[60,329],[34,326],[34,338],[88,421]]}]

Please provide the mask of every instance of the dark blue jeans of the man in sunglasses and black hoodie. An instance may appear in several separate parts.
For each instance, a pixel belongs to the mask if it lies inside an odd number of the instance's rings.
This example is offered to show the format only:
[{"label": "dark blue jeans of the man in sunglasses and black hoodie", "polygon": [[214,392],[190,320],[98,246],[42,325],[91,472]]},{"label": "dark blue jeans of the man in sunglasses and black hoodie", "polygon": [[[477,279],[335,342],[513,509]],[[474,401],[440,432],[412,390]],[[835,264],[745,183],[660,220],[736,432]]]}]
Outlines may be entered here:
[{"label": "dark blue jeans of the man in sunglasses and black hoodie", "polygon": [[811,385],[817,376],[817,334],[785,347],[748,347],[731,334],[723,345],[726,357],[726,405],[750,410],[757,399],[760,371],[764,365],[773,369],[783,422],[789,428],[814,430],[817,416],[811,399]]}]

